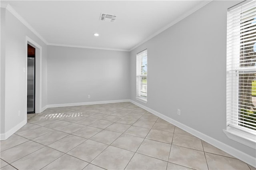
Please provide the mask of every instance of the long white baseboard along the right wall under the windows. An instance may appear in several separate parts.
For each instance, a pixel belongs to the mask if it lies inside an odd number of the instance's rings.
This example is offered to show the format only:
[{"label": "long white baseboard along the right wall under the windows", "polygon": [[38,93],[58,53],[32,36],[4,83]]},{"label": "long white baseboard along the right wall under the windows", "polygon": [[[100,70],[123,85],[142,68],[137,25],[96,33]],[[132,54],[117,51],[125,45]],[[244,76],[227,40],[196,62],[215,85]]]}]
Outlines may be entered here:
[{"label": "long white baseboard along the right wall under the windows", "polygon": [[220,142],[219,140],[216,140],[206,134],[203,134],[193,128],[190,128],[178,121],[175,121],[174,119],[171,119],[170,117],[167,117],[165,115],[162,115],[161,113],[158,113],[157,111],[154,111],[153,109],[150,109],[144,105],[141,105],[140,103],[137,103],[136,101],[130,100],[131,103],[134,105],[137,105],[138,107],[141,107],[142,109],[145,109],[146,111],[164,119],[165,121],[175,125],[176,127],[181,128],[182,130],[185,130],[186,132],[189,132],[190,134],[193,134],[194,136],[208,142],[209,144],[215,146],[216,148],[219,148],[220,150],[223,150],[224,152],[234,156],[235,158],[238,158],[242,160],[243,162],[246,162],[247,164],[256,167],[256,161],[253,156],[250,156],[240,150],[237,150],[236,148],[233,148],[227,144],[224,144],[223,142]]}]

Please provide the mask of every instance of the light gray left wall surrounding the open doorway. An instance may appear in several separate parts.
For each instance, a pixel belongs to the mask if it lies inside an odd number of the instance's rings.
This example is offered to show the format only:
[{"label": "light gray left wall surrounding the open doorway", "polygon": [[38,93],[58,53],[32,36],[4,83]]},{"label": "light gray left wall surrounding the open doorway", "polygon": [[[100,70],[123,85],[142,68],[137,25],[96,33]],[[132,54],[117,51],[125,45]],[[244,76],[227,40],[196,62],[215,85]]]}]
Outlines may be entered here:
[{"label": "light gray left wall surrounding the open doorway", "polygon": [[[5,25],[1,24],[1,30],[5,30],[5,78],[1,85],[5,85],[5,120],[1,120],[1,126],[4,125],[4,132],[13,130],[20,123],[26,122],[27,105],[26,105],[26,36],[34,40],[42,47],[42,82],[47,82],[47,45],[33,34],[22,22],[20,22],[8,10],[4,10],[5,15],[1,15],[1,20],[5,20]],[[1,8],[2,12],[2,8]],[[2,38],[1,38],[2,43]],[[2,47],[2,46],[1,46]],[[2,94],[2,91],[1,91]],[[47,89],[45,83],[42,85],[42,107],[47,103]],[[1,95],[2,96],[2,95]],[[1,100],[1,103],[3,101]],[[18,114],[20,111],[20,115]],[[17,129],[18,130],[18,129]],[[2,132],[1,132],[2,133]]]}]

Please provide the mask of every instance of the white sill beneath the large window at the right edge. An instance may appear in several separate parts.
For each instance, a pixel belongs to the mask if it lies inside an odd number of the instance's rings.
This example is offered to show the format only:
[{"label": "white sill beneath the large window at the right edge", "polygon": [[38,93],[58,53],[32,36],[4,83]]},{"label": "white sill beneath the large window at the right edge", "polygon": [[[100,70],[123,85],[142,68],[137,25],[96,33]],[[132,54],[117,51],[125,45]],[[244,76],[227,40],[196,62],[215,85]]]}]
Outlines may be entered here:
[{"label": "white sill beneath the large window at the right edge", "polygon": [[238,128],[234,128],[231,126],[228,126],[227,130],[223,129],[223,132],[231,140],[235,140],[236,142],[239,142],[241,144],[244,144],[244,145],[249,146],[254,149],[256,148],[256,135],[255,134],[251,134],[251,133],[245,132],[243,130],[240,130]]}]

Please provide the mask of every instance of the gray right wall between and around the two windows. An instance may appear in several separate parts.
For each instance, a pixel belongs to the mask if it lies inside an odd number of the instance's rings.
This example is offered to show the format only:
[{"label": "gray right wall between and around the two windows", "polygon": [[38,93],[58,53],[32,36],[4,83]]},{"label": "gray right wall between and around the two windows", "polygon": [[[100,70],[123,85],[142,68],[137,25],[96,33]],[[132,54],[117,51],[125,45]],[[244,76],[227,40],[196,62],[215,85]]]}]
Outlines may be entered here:
[{"label": "gray right wall between and around the two windows", "polygon": [[[136,53],[148,49],[148,103],[140,103],[251,156],[226,129],[226,15],[238,1],[212,1],[130,53],[136,101]],[[181,115],[177,115],[181,109]]]}]

